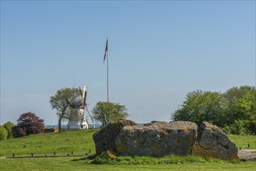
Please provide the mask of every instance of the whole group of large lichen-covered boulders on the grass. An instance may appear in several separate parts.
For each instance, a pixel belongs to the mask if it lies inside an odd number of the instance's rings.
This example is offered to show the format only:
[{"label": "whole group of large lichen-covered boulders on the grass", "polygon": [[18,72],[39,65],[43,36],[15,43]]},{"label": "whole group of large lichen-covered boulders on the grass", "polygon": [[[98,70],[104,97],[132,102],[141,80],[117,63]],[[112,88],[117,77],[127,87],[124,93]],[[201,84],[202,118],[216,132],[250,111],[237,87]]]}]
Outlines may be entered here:
[{"label": "whole group of large lichen-covered boulders on the grass", "polygon": [[93,134],[96,154],[114,155],[199,155],[216,159],[239,159],[237,146],[208,122],[155,122],[136,125],[131,120],[114,120]]}]

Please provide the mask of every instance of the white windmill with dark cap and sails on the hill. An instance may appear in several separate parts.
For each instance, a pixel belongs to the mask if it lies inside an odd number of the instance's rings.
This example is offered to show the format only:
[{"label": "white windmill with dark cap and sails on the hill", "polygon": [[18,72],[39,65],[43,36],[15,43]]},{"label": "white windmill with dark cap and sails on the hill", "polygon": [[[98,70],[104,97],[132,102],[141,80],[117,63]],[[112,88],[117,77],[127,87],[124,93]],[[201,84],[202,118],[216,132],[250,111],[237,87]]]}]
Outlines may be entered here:
[{"label": "white windmill with dark cap and sails on the hill", "polygon": [[79,87],[80,99],[79,99],[79,101],[76,101],[75,103],[73,103],[71,106],[78,110],[79,118],[81,118],[81,120],[69,120],[68,121],[68,129],[88,129],[89,123],[86,118],[86,114],[85,114],[86,112],[89,114],[89,117],[93,122],[93,117],[89,113],[89,110],[87,107],[86,94],[87,94],[86,86],[84,86],[83,91]]}]

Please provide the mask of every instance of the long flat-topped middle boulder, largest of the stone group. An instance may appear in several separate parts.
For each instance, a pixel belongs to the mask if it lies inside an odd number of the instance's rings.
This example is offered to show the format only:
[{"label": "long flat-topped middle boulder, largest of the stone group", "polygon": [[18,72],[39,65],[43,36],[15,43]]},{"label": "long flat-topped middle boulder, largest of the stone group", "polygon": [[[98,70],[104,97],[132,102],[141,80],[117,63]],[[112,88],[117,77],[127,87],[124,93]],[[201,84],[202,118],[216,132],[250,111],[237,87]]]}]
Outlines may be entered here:
[{"label": "long flat-topped middle boulder, largest of the stone group", "polygon": [[120,155],[188,155],[197,136],[197,124],[156,122],[123,127],[114,141]]}]

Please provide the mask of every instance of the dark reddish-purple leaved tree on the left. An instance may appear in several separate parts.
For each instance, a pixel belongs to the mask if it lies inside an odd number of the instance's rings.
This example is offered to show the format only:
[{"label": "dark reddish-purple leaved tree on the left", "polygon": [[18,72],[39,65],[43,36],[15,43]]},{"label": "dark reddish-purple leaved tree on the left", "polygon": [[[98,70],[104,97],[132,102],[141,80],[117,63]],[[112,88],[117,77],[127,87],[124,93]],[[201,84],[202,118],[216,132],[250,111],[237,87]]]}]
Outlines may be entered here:
[{"label": "dark reddish-purple leaved tree on the left", "polygon": [[17,122],[18,124],[12,127],[12,135],[14,138],[29,134],[38,134],[44,131],[44,120],[37,117],[35,113],[23,113],[19,116]]}]

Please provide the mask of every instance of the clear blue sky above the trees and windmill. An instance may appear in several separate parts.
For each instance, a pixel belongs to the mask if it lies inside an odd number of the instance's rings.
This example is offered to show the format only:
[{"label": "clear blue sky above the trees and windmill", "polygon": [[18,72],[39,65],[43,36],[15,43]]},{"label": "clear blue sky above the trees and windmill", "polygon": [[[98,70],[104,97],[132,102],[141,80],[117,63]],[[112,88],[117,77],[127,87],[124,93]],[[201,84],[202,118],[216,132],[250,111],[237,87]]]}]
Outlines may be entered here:
[{"label": "clear blue sky above the trees and windmill", "polygon": [[[1,124],[87,86],[89,110],[125,105],[137,123],[170,121],[188,92],[255,86],[255,1],[2,1]],[[90,120],[89,120],[90,122]]]}]

